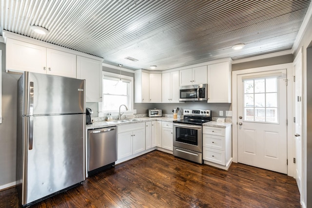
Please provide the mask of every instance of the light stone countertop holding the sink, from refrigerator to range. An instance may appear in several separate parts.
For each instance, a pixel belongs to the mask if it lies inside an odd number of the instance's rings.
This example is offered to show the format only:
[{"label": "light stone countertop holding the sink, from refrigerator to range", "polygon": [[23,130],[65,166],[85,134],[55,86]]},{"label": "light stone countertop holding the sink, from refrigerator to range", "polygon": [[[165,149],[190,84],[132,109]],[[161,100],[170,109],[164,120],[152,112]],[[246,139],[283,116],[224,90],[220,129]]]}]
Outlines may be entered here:
[{"label": "light stone countertop holding the sink, from refrigerator to range", "polygon": [[[136,121],[131,121],[132,119],[136,119]],[[95,121],[93,124],[86,125],[86,129],[98,129],[98,128],[105,128],[105,127],[112,127],[112,126],[121,126],[121,125],[128,125],[128,124],[135,124],[135,123],[142,123],[146,121],[167,121],[173,122],[174,120],[172,117],[140,117],[140,118],[130,118],[130,119],[122,119],[122,120],[129,120],[129,122],[123,123],[113,123],[113,121]]]}]

